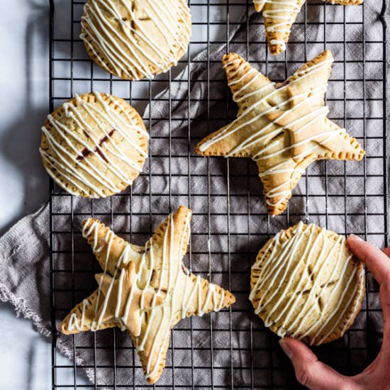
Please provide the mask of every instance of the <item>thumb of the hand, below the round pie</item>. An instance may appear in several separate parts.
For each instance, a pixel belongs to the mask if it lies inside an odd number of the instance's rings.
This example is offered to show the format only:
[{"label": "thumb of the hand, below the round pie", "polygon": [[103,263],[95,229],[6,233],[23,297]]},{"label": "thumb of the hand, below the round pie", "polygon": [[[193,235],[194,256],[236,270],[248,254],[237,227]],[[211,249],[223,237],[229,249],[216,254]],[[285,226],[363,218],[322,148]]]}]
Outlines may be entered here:
[{"label": "thumb of the hand, below the round pie", "polygon": [[296,379],[303,386],[311,390],[353,388],[352,379],[319,362],[316,355],[303,342],[294,338],[282,338],[279,344],[294,365]]}]

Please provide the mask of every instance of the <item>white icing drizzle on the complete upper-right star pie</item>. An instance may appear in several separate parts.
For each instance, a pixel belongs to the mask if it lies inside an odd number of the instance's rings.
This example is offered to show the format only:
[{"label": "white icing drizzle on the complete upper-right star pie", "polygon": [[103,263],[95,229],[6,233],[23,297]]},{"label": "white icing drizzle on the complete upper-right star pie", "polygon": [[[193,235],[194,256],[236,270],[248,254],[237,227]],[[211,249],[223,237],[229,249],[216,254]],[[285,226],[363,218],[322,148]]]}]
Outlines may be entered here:
[{"label": "white icing drizzle on the complete upper-right star pie", "polygon": [[[229,65],[232,65],[234,62],[240,61],[240,58],[236,58],[235,60],[232,60],[231,62],[228,62],[228,64],[225,64],[224,67],[228,67]],[[294,97],[291,97],[289,99],[285,99],[281,101],[279,104],[275,104],[274,106],[271,106],[270,108],[267,108],[264,111],[261,111],[260,113],[255,112],[255,108],[257,106],[260,106],[261,104],[265,104],[269,99],[274,96],[275,94],[279,94],[280,91],[284,91],[291,85],[295,84],[296,82],[302,80],[305,77],[308,77],[310,75],[313,75],[315,72],[321,72],[324,67],[328,67],[329,64],[331,64],[333,60],[324,60],[322,62],[319,62],[318,64],[311,65],[310,67],[307,67],[306,69],[301,69],[299,72],[296,72],[296,79],[291,79],[288,84],[283,85],[280,88],[276,88],[276,84],[273,82],[269,82],[269,84],[266,84],[259,89],[255,91],[250,91],[247,94],[243,94],[245,92],[245,89],[250,87],[250,85],[255,82],[255,79],[257,77],[260,77],[260,72],[258,72],[254,77],[250,78],[244,85],[241,87],[238,91],[235,91],[233,94],[233,100],[235,102],[242,101],[244,99],[249,98],[250,96],[253,96],[257,93],[264,93],[264,91],[267,91],[267,93],[262,97],[262,99],[257,99],[254,103],[250,104],[242,113],[240,113],[240,116],[235,119],[232,123],[230,123],[228,126],[226,126],[221,132],[214,135],[212,138],[210,138],[208,141],[203,143],[199,150],[201,152],[205,152],[209,147],[214,145],[215,143],[218,143],[219,141],[223,140],[224,138],[234,135],[237,133],[240,129],[245,128],[245,126],[250,126],[252,123],[255,123],[261,118],[264,118],[267,116],[267,114],[283,110],[285,109],[284,113],[282,113],[281,116],[279,116],[278,120],[284,118],[285,116],[288,116],[289,113],[291,113],[291,108],[289,108],[289,104],[291,101],[296,99],[301,99],[299,103],[295,104],[294,109],[299,108],[299,106],[306,106],[310,104],[312,99],[318,99],[318,96],[321,96],[325,93],[326,88],[328,87],[328,84],[320,85],[316,88],[310,89],[308,91],[304,91],[301,94],[296,94]],[[243,62],[243,65],[246,63]],[[240,67],[243,67],[243,65],[240,65]],[[252,67],[249,67],[247,72],[243,74],[242,77],[238,80],[234,80],[229,83],[229,85],[237,84],[240,81],[243,81],[245,77],[250,74],[250,72],[253,72],[255,69]],[[240,94],[243,94],[243,96],[238,97]],[[309,96],[310,95],[310,96]],[[287,106],[287,107],[286,107]],[[287,108],[287,109],[286,109]],[[294,126],[300,121],[305,121],[307,118],[310,118],[313,116],[313,118],[305,123],[301,128],[296,131],[296,133],[299,133],[300,131],[304,130],[307,126],[310,126],[314,121],[317,120],[318,116],[324,115],[328,112],[327,107],[321,107],[318,108],[318,110],[313,111],[311,113],[307,113],[304,116],[301,116],[300,118],[297,118],[294,121],[291,121],[290,123],[287,123],[286,126],[279,126],[277,123],[274,123],[270,121],[266,126],[260,128],[259,130],[255,131],[255,133],[252,133],[252,135],[248,136],[242,143],[237,145],[236,147],[231,150],[228,155],[225,157],[231,157],[235,154],[238,154],[240,152],[243,152],[245,149],[252,147],[256,144],[263,143],[263,145],[260,145],[258,152],[256,152],[254,155],[252,155],[252,160],[258,161],[258,160],[267,160],[271,157],[275,157],[277,155],[282,155],[287,150],[294,149],[294,147],[299,145],[305,145],[308,143],[311,143],[312,141],[321,140],[323,142],[330,140],[330,138],[333,138],[338,135],[342,135],[345,133],[345,129],[343,128],[337,128],[335,130],[329,130],[327,132],[318,133],[314,136],[305,138],[304,140],[301,140],[296,143],[291,143],[288,147],[284,148],[278,148],[276,152],[268,152],[268,150],[272,150],[275,147],[277,147],[277,143],[279,142],[277,135],[281,134],[283,130],[286,130],[290,126]],[[247,117],[247,118],[246,118]],[[276,128],[272,130],[273,127]],[[273,140],[274,139],[274,140]],[[268,144],[265,144],[268,142]],[[267,146],[265,146],[267,145]],[[305,152],[301,153],[300,155],[294,156],[294,159],[303,159],[304,157],[308,156],[313,152],[314,149],[316,149],[317,145],[313,145],[311,147],[306,147]],[[268,153],[267,153],[268,152]],[[265,194],[267,204],[270,206],[277,206],[280,204],[284,199],[286,199],[289,194],[291,194],[291,190],[285,190],[285,191],[279,191],[279,189],[282,189],[286,184],[289,184],[290,182],[294,182],[295,180],[299,179],[301,174],[304,173],[304,169],[296,169],[295,167],[291,167],[291,164],[289,164],[288,160],[285,160],[283,162],[277,163],[277,165],[271,166],[264,170],[264,172],[260,173],[260,177],[269,176],[271,174],[286,174],[290,173],[290,176],[287,176],[286,180],[284,182],[281,182],[277,187],[274,189],[268,191]],[[272,201],[275,197],[279,197],[276,201]]]}]

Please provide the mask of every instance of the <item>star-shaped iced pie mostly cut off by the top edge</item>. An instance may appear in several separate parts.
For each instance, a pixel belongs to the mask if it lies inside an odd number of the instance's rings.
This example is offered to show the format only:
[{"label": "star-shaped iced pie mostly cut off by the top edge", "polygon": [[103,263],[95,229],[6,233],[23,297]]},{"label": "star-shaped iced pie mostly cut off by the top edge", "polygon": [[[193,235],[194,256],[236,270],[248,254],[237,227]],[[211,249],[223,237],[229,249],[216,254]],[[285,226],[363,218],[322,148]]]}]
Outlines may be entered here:
[{"label": "star-shaped iced pie mostly cut off by the top edge", "polygon": [[[323,0],[326,1],[326,0]],[[363,0],[328,0],[332,4],[355,6]],[[279,54],[286,50],[291,26],[306,0],[253,0],[255,10],[262,11],[269,51]]]}]

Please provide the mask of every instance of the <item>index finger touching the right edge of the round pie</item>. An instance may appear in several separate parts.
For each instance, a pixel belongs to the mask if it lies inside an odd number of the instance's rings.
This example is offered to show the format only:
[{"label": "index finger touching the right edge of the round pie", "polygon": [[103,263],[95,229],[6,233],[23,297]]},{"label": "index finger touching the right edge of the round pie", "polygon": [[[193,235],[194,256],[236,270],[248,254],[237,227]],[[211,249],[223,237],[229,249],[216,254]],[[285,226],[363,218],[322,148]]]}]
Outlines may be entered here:
[{"label": "index finger touching the right edge of the round pie", "polygon": [[347,243],[353,254],[367,265],[379,284],[390,283],[390,259],[384,252],[353,234],[347,238]]}]

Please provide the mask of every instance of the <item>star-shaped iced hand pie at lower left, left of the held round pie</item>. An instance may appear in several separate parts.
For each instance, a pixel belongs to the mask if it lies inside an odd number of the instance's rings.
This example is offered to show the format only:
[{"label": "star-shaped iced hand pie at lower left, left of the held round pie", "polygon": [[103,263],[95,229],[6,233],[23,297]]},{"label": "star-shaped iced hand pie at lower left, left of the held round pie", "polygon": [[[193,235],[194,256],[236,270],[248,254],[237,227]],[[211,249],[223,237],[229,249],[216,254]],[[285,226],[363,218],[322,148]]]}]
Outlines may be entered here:
[{"label": "star-shaped iced hand pie at lower left, left of the held round pie", "polygon": [[165,367],[170,330],[182,318],[228,308],[229,291],[189,273],[182,264],[189,242],[191,210],[170,214],[145,247],[127,243],[103,223],[89,218],[83,236],[103,274],[99,288],[79,303],[60,325],[67,335],[118,326],[129,330],[150,383]]}]

